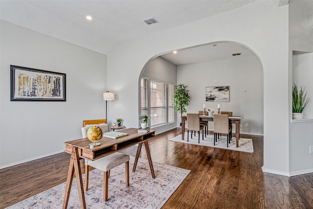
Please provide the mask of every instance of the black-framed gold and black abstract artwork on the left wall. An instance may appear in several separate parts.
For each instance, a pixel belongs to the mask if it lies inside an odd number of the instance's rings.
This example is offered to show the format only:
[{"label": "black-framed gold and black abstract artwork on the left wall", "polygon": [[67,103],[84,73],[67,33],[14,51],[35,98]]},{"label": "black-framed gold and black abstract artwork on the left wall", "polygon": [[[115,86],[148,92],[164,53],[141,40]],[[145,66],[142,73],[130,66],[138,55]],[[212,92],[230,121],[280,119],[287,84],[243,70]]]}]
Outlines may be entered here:
[{"label": "black-framed gold and black abstract artwork on the left wall", "polygon": [[66,101],[66,74],[11,65],[11,101]]}]

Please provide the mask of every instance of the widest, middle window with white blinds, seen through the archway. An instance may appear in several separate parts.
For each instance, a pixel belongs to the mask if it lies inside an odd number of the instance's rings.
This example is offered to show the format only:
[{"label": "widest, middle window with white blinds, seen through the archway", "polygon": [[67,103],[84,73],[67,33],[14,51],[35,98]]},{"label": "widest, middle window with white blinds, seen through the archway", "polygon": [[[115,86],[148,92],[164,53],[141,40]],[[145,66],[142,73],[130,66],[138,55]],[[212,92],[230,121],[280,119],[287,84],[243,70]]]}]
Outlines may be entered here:
[{"label": "widest, middle window with white blinds, seen through the archway", "polygon": [[150,122],[151,126],[166,124],[166,85],[165,83],[151,80],[151,104]]}]

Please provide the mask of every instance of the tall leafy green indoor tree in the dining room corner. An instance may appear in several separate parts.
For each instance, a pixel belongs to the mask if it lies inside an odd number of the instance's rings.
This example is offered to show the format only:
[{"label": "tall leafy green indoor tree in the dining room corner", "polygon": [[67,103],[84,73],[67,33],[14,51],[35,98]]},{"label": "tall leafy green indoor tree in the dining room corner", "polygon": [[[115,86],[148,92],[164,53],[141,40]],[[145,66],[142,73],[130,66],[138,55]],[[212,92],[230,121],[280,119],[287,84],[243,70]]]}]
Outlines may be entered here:
[{"label": "tall leafy green indoor tree in the dining room corner", "polygon": [[180,117],[182,117],[183,113],[187,113],[186,106],[188,106],[190,102],[190,96],[188,94],[187,86],[183,84],[175,86],[173,97],[174,97],[174,106],[177,107],[176,111],[179,112]]}]

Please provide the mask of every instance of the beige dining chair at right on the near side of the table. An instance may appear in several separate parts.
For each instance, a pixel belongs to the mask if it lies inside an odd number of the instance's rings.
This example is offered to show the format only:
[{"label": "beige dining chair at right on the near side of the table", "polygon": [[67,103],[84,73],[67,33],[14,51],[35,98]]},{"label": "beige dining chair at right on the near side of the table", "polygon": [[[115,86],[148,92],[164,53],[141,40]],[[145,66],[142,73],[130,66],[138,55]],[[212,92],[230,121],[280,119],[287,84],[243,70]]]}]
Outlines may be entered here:
[{"label": "beige dining chair at right on the near side of the table", "polygon": [[214,146],[217,141],[218,134],[227,134],[227,147],[228,143],[230,143],[230,131],[229,127],[229,118],[226,114],[214,114],[213,115],[213,123],[214,123]]}]

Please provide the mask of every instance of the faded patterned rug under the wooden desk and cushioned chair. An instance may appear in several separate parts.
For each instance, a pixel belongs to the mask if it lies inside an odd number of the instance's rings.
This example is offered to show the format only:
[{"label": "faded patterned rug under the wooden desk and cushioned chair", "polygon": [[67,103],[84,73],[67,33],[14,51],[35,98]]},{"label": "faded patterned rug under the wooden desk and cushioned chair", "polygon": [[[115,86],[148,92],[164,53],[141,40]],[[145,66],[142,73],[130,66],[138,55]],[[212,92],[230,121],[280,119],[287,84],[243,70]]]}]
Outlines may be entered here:
[{"label": "faded patterned rug under the wooden desk and cushioned chair", "polygon": [[[153,162],[156,178],[151,177],[148,160],[138,160],[133,172],[134,157],[130,156],[130,186],[125,185],[125,163],[111,170],[109,200],[103,200],[103,172],[89,172],[89,190],[85,192],[87,209],[160,209],[190,170]],[[85,174],[83,175],[85,185]],[[8,209],[61,209],[66,183],[55,186]],[[73,179],[68,207],[80,208],[76,178]]]}]

